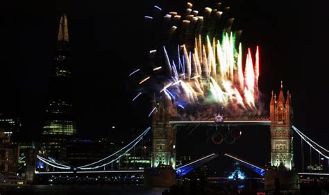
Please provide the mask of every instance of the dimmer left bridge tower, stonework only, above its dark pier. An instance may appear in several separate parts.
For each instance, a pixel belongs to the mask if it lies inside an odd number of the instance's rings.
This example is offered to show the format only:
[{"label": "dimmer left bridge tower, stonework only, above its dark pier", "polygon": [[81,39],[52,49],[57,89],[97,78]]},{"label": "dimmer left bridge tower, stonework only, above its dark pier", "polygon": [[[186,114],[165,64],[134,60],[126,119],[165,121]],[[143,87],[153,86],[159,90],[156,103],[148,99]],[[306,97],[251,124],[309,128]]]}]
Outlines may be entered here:
[{"label": "dimmer left bridge tower, stonework only, above its dark pier", "polygon": [[155,97],[152,101],[155,111],[152,116],[153,150],[151,167],[159,164],[176,167],[176,128],[169,121],[175,108],[170,102],[156,103]]}]

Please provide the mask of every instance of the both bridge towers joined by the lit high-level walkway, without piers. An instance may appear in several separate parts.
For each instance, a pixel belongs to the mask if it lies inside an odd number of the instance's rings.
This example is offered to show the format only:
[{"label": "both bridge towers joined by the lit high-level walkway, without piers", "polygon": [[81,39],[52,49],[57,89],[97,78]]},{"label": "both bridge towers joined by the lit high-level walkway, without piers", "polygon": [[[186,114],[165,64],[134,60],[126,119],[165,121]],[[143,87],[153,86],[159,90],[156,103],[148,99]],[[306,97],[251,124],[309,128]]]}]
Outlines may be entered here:
[{"label": "both bridge towers joined by the lit high-level walkway, without piers", "polygon": [[273,92],[271,94],[269,117],[223,117],[221,120],[217,120],[216,117],[204,117],[195,121],[185,121],[175,116],[176,108],[170,103],[167,103],[166,107],[165,103],[156,103],[153,99],[152,105],[156,108],[152,114],[152,167],[158,167],[158,164],[176,167],[176,126],[187,125],[270,126],[271,166],[282,165],[287,170],[294,167],[291,95],[288,91],[285,99],[282,85],[278,97]]}]

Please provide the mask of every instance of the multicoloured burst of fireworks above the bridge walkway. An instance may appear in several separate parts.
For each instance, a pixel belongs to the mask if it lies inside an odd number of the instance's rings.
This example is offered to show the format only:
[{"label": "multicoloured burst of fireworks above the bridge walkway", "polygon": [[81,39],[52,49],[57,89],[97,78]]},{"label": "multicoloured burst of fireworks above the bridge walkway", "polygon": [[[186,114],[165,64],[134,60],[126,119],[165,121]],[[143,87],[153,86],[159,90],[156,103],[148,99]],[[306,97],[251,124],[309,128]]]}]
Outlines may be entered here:
[{"label": "multicoloured burst of fireworks above the bridge walkway", "polygon": [[[228,8],[220,6],[205,8],[198,16],[187,3],[185,15],[145,17],[147,22],[162,23],[165,40],[149,52],[153,75],[144,76],[140,85],[148,80],[153,92],[183,110],[220,106],[230,115],[255,115],[260,109],[259,48],[255,55],[251,49],[243,53],[241,32],[231,31],[233,19],[226,19]],[[155,10],[162,13],[158,6]]]}]

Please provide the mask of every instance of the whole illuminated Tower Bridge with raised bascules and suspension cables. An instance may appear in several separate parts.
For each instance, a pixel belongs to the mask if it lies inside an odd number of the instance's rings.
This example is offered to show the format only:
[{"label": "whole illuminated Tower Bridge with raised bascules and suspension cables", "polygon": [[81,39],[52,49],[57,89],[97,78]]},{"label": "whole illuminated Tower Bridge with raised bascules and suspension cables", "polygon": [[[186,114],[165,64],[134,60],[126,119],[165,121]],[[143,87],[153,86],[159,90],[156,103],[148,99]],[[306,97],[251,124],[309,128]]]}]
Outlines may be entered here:
[{"label": "whole illuminated Tower Bridge with raised bascules and suspension cables", "polygon": [[[329,159],[329,151],[312,139],[304,135],[296,126],[293,125],[293,109],[291,104],[291,95],[287,92],[287,98],[283,94],[283,90],[279,92],[278,97],[271,94],[270,115],[269,117],[223,117],[223,120],[217,121],[215,117],[205,117],[196,121],[179,120],[171,115],[172,109],[166,107],[164,103],[157,103],[155,99],[152,101],[155,106],[155,112],[152,113],[152,126],[146,128],[139,136],[135,137],[132,142],[120,150],[108,155],[106,158],[85,164],[80,167],[71,167],[67,164],[54,160],[50,157],[37,155],[37,168],[35,174],[77,174],[95,175],[95,174],[144,174],[148,178],[151,185],[159,184],[167,180],[165,185],[175,182],[176,176],[185,176],[186,173],[199,167],[201,164],[216,158],[217,154],[206,155],[199,160],[194,160],[182,167],[176,166],[176,127],[177,126],[269,126],[271,132],[271,167],[277,170],[285,170],[294,172],[294,151],[293,151],[293,133],[298,135],[312,149],[317,151],[327,160]],[[152,151],[151,151],[151,167],[145,169],[117,169],[113,164],[120,163],[127,153],[135,149],[137,144],[142,142],[143,137],[148,133],[152,133]],[[233,155],[232,155],[233,156]],[[233,156],[234,157],[234,156]],[[237,157],[235,157],[237,158]],[[237,158],[239,160],[239,158]],[[244,160],[245,161],[245,160]],[[246,161],[245,161],[246,162]],[[43,165],[42,165],[43,164]],[[247,163],[253,166],[251,163]],[[42,166],[41,166],[42,165]],[[257,170],[265,174],[267,170],[257,167]],[[156,173],[156,176],[154,175]],[[307,175],[301,171],[296,172],[296,176]],[[310,174],[310,173],[308,173]],[[323,176],[326,176],[325,175]],[[151,180],[150,180],[151,177]],[[155,177],[153,180],[152,177]],[[168,178],[169,177],[169,178]],[[159,180],[160,178],[160,180]],[[272,182],[273,183],[273,182]]]}]

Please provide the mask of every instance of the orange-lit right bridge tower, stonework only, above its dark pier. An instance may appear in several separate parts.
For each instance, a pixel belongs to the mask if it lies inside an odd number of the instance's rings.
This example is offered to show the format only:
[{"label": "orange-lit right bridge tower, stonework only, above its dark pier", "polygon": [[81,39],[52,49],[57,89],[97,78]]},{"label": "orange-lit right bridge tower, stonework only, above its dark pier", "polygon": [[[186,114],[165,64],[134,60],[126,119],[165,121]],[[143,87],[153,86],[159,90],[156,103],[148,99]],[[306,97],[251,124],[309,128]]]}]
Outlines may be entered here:
[{"label": "orange-lit right bridge tower, stonework only, above its dark pier", "polygon": [[282,81],[278,96],[273,94],[270,103],[271,118],[271,166],[291,171],[294,169],[292,119],[292,96],[287,91],[287,99],[283,95]]}]

